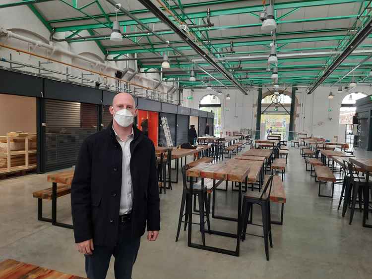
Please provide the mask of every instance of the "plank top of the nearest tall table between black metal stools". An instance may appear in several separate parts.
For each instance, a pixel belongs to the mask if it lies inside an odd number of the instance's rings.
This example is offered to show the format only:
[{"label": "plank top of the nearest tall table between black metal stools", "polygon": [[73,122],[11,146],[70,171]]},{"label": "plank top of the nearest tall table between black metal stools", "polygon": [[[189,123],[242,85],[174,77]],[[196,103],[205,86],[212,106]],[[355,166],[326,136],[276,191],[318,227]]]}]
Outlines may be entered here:
[{"label": "plank top of the nearest tall table between black metal stools", "polygon": [[244,182],[249,172],[249,162],[257,161],[232,159],[226,163],[219,164],[203,163],[189,168],[187,170],[187,176]]}]

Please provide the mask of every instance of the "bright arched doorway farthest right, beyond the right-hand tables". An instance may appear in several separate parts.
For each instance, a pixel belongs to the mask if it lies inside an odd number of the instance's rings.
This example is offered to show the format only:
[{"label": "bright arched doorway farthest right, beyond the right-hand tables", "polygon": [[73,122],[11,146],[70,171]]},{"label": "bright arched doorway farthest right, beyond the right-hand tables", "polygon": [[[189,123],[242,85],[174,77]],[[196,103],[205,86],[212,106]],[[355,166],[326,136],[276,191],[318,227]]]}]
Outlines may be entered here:
[{"label": "bright arched doorway farthest right, beyond the right-hand tables", "polygon": [[[353,116],[355,115],[357,100],[366,97],[363,92],[353,92],[345,96],[341,102],[339,124],[345,125],[345,142],[349,144],[349,150],[354,150]],[[340,139],[342,141],[343,139]]]}]

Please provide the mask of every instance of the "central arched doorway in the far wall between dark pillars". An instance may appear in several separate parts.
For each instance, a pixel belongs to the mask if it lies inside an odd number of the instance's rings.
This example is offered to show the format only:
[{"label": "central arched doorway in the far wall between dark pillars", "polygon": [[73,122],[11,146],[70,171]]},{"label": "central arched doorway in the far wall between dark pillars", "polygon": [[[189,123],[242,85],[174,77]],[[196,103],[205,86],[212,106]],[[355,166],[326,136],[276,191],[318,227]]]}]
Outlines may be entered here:
[{"label": "central arched doorway in the far wall between dark pillars", "polygon": [[279,96],[270,92],[262,94],[260,134],[264,138],[270,133],[278,133],[288,139],[292,98],[287,92],[280,93]]}]

